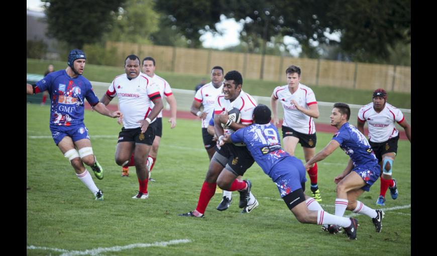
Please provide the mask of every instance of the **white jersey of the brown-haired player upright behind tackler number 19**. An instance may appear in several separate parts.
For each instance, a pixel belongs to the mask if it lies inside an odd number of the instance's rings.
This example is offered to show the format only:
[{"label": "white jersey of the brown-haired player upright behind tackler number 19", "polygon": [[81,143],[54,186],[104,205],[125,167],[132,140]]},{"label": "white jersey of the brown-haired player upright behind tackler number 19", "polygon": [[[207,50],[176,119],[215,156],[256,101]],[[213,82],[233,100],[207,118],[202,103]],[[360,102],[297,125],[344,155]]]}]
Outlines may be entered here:
[{"label": "white jersey of the brown-haired player upright behind tackler number 19", "polygon": [[291,103],[291,100],[294,99],[300,106],[305,107],[306,109],[309,109],[309,105],[317,104],[312,89],[299,83],[299,87],[293,94],[288,89],[288,84],[276,87],[273,92],[274,97],[279,99],[284,108],[283,125],[302,134],[314,134],[314,118],[300,112],[297,110],[296,106]]}]

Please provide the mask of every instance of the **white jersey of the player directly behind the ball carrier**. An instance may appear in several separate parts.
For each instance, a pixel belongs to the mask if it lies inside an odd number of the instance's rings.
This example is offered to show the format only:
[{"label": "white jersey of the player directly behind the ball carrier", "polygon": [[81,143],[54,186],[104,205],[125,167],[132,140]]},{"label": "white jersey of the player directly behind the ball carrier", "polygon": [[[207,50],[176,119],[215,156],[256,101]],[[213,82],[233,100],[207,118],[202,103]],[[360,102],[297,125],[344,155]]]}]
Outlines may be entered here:
[{"label": "white jersey of the player directly behind the ball carrier", "polygon": [[217,96],[222,93],[222,89],[223,83],[220,87],[215,88],[214,85],[212,85],[212,82],[209,82],[200,87],[194,95],[194,100],[202,103],[203,112],[208,113],[206,118],[202,119],[202,128],[208,127],[209,119],[211,119],[212,112],[214,111],[215,100],[217,99]]}]

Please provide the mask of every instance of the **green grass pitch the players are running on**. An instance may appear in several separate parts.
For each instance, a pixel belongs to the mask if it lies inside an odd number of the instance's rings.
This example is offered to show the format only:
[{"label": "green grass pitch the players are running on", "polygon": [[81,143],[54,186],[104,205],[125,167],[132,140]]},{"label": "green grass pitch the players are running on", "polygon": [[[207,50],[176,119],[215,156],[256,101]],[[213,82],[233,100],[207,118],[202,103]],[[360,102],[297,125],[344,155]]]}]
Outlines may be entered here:
[{"label": "green grass pitch the players are running on", "polygon": [[[51,139],[49,111],[49,106],[27,105],[28,255],[411,254],[408,141],[399,141],[393,168],[399,197],[392,200],[387,191],[382,232],[376,233],[371,219],[359,215],[358,239],[351,241],[343,234],[322,232],[320,226],[299,223],[280,199],[274,183],[256,164],[245,175],[252,181],[252,192],[260,203],[251,213],[240,213],[239,195],[234,192],[234,203],[224,212],[215,209],[221,200],[221,193],[217,193],[205,218],[177,216],[195,208],[208,167],[200,122],[194,120],[178,119],[176,128],[170,130],[164,118],[163,138],[152,172],[156,182],[149,182],[149,199],[135,200],[131,199],[138,190],[135,168],[131,167],[130,177],[122,178],[121,167],[114,160],[121,127],[115,119],[85,111],[93,151],[105,173],[103,180],[93,176],[104,191],[104,201],[95,201]],[[318,133],[316,151],[331,138],[331,134]],[[302,150],[296,153],[303,159]],[[337,150],[318,163],[321,205],[327,212],[334,213],[333,179],[344,170],[348,159]],[[362,195],[364,204],[376,207],[379,184],[377,181]],[[347,211],[346,215],[351,213]],[[165,242],[174,240],[179,241],[165,246]]]}]

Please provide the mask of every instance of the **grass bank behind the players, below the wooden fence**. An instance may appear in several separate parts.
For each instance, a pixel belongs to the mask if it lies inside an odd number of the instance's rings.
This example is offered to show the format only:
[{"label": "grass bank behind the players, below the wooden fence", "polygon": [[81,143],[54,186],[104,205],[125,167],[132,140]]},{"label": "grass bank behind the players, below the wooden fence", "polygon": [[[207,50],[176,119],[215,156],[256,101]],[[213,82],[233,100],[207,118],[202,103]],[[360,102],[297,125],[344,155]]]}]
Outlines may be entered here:
[{"label": "grass bank behind the players, below the wooden fence", "polygon": [[[67,67],[66,61],[47,61],[27,59],[27,73],[44,74],[48,64],[53,64],[55,70],[65,69]],[[120,67],[113,66],[99,66],[93,64],[86,64],[83,75],[90,81],[107,82],[113,81],[114,77],[125,72],[121,63]],[[158,64],[157,64],[158,65]],[[172,72],[161,72],[157,66],[157,74],[164,77],[172,88],[194,90],[196,84],[200,82],[202,77],[209,79],[207,75],[181,74]],[[228,70],[229,71],[229,70]],[[227,70],[225,70],[227,72]],[[209,80],[208,80],[209,81]],[[302,83],[305,83],[304,77]],[[243,89],[251,95],[266,96],[272,95],[273,89],[278,85],[286,84],[285,75],[284,81],[263,81],[250,80],[243,77]],[[372,100],[372,90],[357,90],[340,87],[328,86],[311,86],[311,89],[316,95],[317,101],[325,102],[346,102],[349,104],[365,105]],[[398,108],[411,108],[411,94],[389,92],[388,102]]]}]

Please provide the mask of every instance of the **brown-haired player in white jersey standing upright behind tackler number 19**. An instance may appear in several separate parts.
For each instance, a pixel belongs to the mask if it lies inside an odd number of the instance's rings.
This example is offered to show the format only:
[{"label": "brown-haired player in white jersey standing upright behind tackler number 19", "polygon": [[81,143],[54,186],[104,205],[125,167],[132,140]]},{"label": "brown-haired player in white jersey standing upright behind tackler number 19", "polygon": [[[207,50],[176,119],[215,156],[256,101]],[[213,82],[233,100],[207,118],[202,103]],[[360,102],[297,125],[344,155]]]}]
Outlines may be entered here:
[{"label": "brown-haired player in white jersey standing upright behind tackler number 19", "polygon": [[[279,124],[277,106],[278,99],[284,109],[284,122],[282,123],[283,147],[286,152],[294,156],[298,143],[302,146],[305,161],[308,162],[315,155],[317,137],[315,134],[314,118],[318,118],[318,106],[314,92],[308,86],[300,83],[300,68],[289,66],[287,85],[278,86],[273,90],[270,103],[273,113],[273,124]],[[320,190],[317,184],[317,164],[308,170],[311,181],[312,197],[321,202]]]}]

